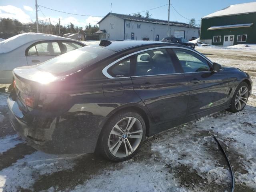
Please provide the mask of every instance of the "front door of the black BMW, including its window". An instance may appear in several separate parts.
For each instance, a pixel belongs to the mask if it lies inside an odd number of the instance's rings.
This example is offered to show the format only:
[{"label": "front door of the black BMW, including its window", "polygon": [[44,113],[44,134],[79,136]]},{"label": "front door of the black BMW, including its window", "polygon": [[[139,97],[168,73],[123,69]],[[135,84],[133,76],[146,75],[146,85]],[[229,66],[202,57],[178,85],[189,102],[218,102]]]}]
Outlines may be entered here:
[{"label": "front door of the black BMW, including its window", "polygon": [[173,51],[188,80],[189,114],[197,114],[225,104],[228,76],[222,72],[213,72],[209,61],[195,51],[184,48],[175,48]]}]

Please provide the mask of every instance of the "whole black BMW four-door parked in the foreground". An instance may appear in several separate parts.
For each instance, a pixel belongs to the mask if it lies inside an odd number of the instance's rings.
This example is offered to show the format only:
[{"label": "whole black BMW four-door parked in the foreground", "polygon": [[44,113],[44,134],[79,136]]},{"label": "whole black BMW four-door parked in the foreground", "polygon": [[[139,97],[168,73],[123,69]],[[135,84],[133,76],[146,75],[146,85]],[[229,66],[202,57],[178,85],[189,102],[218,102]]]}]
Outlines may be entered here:
[{"label": "whole black BMW four-door parked in the foreground", "polygon": [[145,136],[220,110],[239,112],[249,75],[186,46],[101,41],[13,70],[10,122],[51,154],[132,157]]}]

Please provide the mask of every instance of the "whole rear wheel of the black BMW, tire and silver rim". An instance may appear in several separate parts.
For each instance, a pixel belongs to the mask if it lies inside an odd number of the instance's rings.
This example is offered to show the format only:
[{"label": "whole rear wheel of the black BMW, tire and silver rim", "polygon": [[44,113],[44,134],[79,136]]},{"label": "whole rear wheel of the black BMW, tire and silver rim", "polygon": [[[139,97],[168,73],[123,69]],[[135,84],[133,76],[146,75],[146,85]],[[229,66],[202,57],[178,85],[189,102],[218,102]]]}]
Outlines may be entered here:
[{"label": "whole rear wheel of the black BMW, tire and silver rim", "polygon": [[131,158],[140,148],[146,133],[145,122],[136,112],[120,112],[103,128],[98,149],[112,161]]}]

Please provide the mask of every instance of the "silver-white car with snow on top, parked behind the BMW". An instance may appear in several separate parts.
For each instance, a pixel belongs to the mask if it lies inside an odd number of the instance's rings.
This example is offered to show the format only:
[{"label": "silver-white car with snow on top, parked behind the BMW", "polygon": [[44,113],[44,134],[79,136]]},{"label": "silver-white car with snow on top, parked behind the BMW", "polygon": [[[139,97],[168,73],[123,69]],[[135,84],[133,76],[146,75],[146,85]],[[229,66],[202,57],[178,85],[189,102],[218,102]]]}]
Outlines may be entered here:
[{"label": "silver-white car with snow on top, parked behind the BMW", "polygon": [[0,42],[0,84],[12,83],[12,70],[40,64],[86,44],[70,38],[40,33],[24,33]]}]

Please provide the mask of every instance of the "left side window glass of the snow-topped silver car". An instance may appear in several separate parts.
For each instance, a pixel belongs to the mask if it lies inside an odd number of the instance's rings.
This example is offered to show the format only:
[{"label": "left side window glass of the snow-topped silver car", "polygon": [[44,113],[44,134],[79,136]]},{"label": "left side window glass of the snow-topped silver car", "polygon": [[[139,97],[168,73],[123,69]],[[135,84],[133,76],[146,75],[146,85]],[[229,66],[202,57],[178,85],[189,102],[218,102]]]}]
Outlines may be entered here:
[{"label": "left side window glass of the snow-topped silver car", "polygon": [[42,42],[28,50],[28,56],[58,56],[61,54],[57,42]]}]

